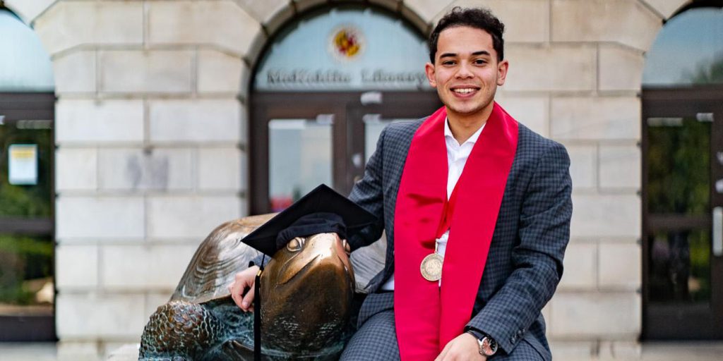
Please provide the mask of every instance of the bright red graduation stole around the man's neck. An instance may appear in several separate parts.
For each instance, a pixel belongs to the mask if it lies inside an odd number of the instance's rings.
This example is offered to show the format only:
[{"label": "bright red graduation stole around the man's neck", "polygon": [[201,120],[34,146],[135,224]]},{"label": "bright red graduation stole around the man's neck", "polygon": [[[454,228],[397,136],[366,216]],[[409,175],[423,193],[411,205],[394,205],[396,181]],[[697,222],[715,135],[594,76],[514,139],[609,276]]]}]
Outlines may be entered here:
[{"label": "bright red graduation stole around the man's neck", "polygon": [[517,150],[518,123],[495,103],[455,186],[442,286],[429,282],[420,265],[435,251],[447,203],[446,116],[442,107],[417,129],[397,195],[394,315],[402,360],[434,360],[463,333]]}]

